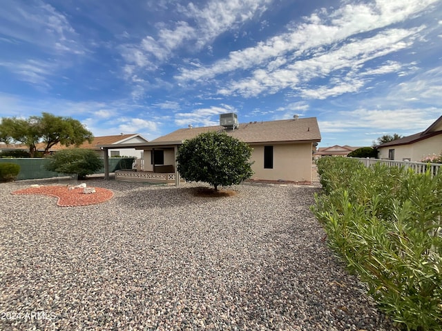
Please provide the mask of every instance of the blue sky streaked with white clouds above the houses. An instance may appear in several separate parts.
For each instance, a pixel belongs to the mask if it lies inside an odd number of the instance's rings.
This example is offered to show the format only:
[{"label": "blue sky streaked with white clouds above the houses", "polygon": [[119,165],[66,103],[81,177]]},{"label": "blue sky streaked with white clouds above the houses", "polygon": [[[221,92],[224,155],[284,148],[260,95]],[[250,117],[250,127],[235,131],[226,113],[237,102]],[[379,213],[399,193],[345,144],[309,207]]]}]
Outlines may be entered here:
[{"label": "blue sky streaked with white clouds above the houses", "polygon": [[95,136],[317,117],[370,146],[442,115],[441,0],[2,0],[0,117]]}]

